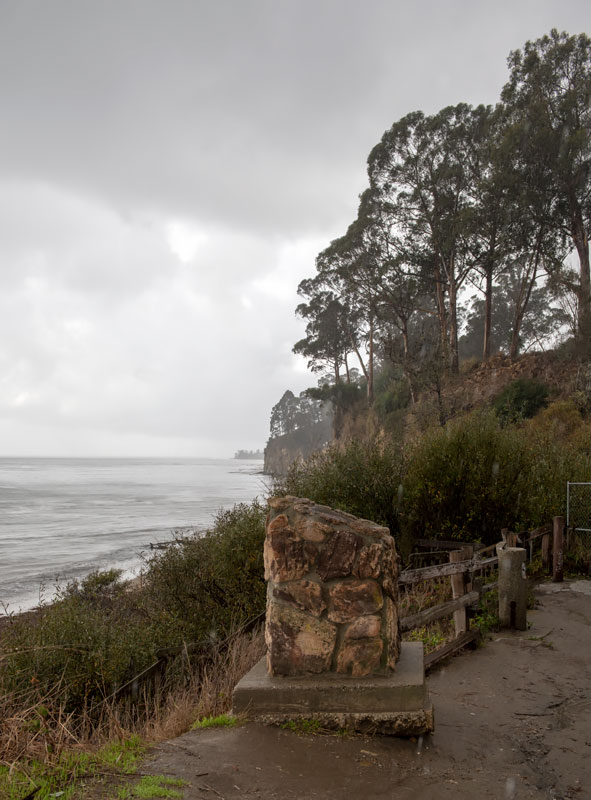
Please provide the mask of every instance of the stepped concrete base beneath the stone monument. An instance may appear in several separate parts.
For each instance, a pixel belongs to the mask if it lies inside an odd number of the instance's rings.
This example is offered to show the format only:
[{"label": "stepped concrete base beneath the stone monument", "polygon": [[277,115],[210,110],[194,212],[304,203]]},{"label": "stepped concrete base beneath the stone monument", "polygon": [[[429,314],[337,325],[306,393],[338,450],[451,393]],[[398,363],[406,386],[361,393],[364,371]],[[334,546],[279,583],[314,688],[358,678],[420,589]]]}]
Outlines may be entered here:
[{"label": "stepped concrete base beneath the stone monument", "polygon": [[403,642],[396,671],[387,676],[271,677],[263,658],[234,689],[232,710],[272,724],[313,719],[325,728],[396,736],[433,730],[421,642]]}]

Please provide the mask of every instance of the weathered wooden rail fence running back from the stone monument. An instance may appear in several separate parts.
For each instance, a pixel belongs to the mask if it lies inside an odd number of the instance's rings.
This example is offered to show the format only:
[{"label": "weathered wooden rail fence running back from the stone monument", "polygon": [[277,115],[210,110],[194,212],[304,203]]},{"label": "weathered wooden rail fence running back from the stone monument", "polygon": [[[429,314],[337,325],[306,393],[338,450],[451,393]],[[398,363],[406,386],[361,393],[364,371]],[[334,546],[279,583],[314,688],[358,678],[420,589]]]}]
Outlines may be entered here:
[{"label": "weathered wooden rail fence running back from the stone monument", "polygon": [[[534,550],[539,546],[543,567],[551,569],[553,580],[562,580],[565,547],[563,517],[555,517],[553,523],[542,525],[529,533],[516,534],[503,529],[501,535],[502,541],[498,544],[525,547],[530,563],[533,560]],[[499,559],[496,555],[498,544],[482,547],[478,543],[461,544],[437,539],[420,539],[416,544],[431,549],[438,558],[442,552],[449,552],[448,563],[406,569],[400,573],[398,580],[400,590],[404,592],[408,587],[422,581],[448,576],[450,578],[451,600],[416,614],[408,614],[400,621],[401,631],[408,632],[453,614],[455,638],[425,656],[425,669],[429,669],[478,638],[478,630],[470,628],[470,612],[478,606],[484,594],[498,588],[498,580],[484,582],[484,575],[490,575],[492,570],[498,567]]]}]

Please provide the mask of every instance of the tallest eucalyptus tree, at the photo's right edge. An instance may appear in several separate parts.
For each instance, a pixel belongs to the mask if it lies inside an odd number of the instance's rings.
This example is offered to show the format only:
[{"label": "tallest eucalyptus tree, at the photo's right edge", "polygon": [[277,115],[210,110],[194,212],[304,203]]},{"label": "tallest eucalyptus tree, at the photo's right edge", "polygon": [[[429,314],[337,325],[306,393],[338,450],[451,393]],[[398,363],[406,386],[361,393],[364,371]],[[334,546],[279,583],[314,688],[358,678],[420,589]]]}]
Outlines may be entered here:
[{"label": "tallest eucalyptus tree, at the photo's right edge", "polygon": [[591,39],[553,29],[509,55],[503,88],[516,174],[545,225],[577,252],[578,334],[591,337]]}]

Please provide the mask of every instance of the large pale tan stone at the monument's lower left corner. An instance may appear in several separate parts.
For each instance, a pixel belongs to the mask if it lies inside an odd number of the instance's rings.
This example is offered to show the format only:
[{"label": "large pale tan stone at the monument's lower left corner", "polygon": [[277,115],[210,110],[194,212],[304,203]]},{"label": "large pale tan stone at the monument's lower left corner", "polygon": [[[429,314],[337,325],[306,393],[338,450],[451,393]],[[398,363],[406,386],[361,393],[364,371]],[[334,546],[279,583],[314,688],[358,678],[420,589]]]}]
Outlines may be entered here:
[{"label": "large pale tan stone at the monument's lower left corner", "polygon": [[336,642],[336,626],[296,608],[271,601],[265,640],[270,675],[328,672]]}]

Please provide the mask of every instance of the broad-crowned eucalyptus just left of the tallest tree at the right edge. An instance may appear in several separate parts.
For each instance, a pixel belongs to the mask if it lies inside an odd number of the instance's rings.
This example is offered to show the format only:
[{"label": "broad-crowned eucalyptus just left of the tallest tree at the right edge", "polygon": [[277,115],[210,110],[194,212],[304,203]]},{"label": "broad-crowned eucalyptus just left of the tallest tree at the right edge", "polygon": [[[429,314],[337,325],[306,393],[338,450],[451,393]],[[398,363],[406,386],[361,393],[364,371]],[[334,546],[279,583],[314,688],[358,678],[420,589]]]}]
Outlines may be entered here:
[{"label": "broad-crowned eucalyptus just left of the tallest tree at the right edge", "polygon": [[398,236],[430,279],[439,316],[441,350],[458,371],[458,294],[473,269],[466,225],[479,159],[480,110],[461,103],[426,117],[408,114],[384,133],[368,158],[370,187],[397,209]]}]

